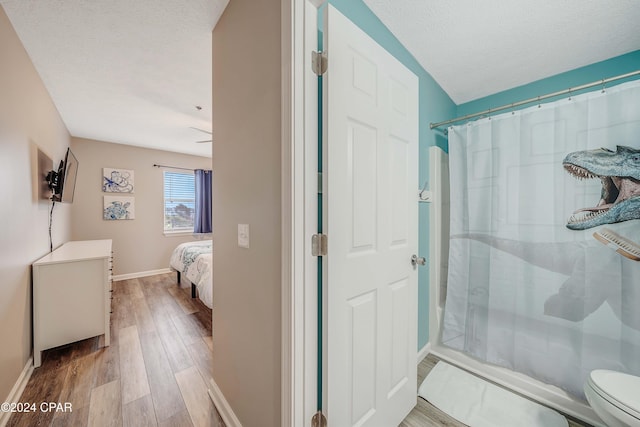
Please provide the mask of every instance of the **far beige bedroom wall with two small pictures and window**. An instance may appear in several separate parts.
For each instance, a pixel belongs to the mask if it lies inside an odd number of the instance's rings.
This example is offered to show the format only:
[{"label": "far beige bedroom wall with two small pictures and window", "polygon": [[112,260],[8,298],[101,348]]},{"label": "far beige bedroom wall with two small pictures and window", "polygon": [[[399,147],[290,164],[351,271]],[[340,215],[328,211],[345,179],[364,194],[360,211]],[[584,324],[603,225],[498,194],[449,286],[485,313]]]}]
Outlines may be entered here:
[{"label": "far beige bedroom wall with two small pictures and window", "polygon": [[[191,169],[211,169],[211,159],[130,145],[72,138],[78,158],[78,179],[71,205],[73,240],[113,239],[113,274],[135,274],[169,267],[172,250],[194,240],[192,235],[165,236],[163,232],[163,181],[165,169],[154,163]],[[102,219],[102,168],[134,171],[135,219]]]}]

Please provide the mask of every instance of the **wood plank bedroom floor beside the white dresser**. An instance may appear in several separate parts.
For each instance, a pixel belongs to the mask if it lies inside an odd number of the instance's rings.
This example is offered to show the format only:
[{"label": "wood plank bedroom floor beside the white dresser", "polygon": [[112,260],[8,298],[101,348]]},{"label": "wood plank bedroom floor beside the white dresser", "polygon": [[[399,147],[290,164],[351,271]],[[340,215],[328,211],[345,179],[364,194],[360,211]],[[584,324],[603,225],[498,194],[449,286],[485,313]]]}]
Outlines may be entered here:
[{"label": "wood plank bedroom floor beside the white dresser", "polygon": [[207,394],[211,310],[190,295],[175,274],[114,282],[111,345],[95,337],[45,351],[20,399],[37,410],[8,425],[224,427]]}]

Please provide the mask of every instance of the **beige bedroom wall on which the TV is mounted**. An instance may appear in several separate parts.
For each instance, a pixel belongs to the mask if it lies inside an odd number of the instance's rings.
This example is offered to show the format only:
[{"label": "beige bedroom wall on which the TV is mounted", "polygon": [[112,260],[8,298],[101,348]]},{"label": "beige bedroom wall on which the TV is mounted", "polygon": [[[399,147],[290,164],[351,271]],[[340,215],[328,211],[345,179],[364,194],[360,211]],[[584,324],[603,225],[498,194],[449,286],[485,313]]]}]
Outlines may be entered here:
[{"label": "beige bedroom wall on which the TV is mounted", "polygon": [[[0,401],[31,356],[31,263],[49,252],[49,203],[38,200],[37,147],[57,165],[69,132],[0,6]],[[53,244],[69,240],[56,204]]]}]

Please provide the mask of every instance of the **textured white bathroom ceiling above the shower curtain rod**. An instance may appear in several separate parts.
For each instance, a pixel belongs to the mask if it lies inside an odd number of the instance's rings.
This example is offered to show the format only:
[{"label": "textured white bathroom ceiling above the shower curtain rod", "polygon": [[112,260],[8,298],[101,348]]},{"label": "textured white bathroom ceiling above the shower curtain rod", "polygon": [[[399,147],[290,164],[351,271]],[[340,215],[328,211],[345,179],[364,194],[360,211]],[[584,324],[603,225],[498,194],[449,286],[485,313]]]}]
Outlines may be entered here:
[{"label": "textured white bathroom ceiling above the shower curtain rod", "polygon": [[456,104],[640,49],[638,0],[364,2]]}]

